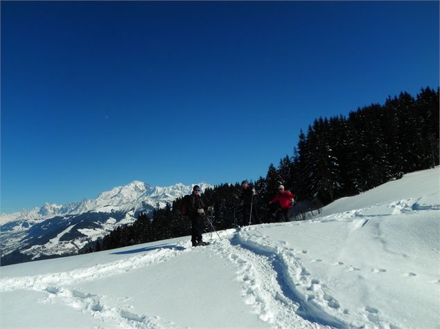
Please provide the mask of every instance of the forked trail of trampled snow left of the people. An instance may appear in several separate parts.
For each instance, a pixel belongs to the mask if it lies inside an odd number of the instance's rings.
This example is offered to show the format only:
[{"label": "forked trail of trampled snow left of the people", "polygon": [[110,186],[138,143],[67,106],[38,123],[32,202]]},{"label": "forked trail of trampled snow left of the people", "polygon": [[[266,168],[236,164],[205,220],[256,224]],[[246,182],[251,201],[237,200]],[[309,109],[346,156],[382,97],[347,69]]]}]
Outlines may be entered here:
[{"label": "forked trail of trampled snow left of the people", "polygon": [[118,323],[123,328],[179,328],[176,323],[165,321],[159,317],[134,314],[130,311],[130,306],[121,307],[121,301],[112,302],[109,297],[82,293],[66,288],[66,286],[85,281],[98,281],[148,265],[162,263],[182,252],[188,252],[190,249],[187,246],[188,243],[180,243],[173,248],[161,248],[120,261],[97,264],[69,272],[3,278],[0,280],[0,292],[20,289],[44,292],[47,297],[39,299],[39,303],[60,303],[71,306],[105,323]]}]

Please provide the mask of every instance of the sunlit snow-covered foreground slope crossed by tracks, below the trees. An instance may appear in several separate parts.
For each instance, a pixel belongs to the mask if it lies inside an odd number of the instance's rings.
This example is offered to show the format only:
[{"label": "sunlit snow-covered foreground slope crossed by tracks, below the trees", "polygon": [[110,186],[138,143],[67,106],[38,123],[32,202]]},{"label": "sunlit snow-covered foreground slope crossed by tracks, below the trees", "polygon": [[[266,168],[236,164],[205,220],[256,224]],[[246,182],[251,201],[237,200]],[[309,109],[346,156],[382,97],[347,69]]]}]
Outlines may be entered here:
[{"label": "sunlit snow-covered foreground slope crossed by tracks, below the trees", "polygon": [[440,328],[440,170],[311,220],[0,267],[1,328]]}]

